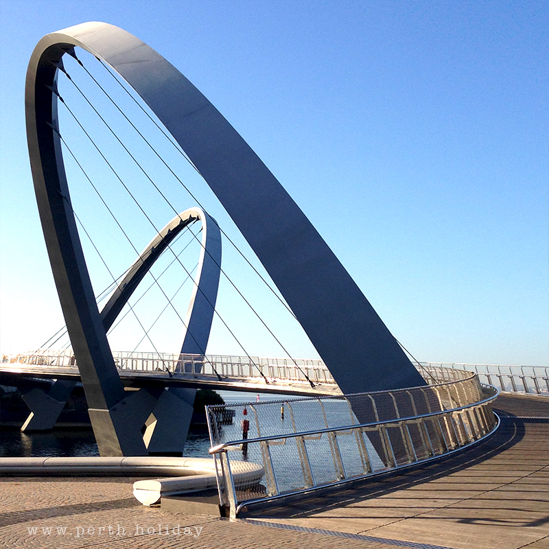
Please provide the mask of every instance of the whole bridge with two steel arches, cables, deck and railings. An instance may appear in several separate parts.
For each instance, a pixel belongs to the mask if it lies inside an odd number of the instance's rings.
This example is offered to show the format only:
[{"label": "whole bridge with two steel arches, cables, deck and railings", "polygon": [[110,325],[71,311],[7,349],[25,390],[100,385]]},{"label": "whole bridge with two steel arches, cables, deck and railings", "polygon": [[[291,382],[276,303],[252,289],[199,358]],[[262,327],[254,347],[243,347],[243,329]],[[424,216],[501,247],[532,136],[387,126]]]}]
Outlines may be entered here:
[{"label": "whole bridge with two steel arches, cables, deck and railings", "polygon": [[[65,62],[71,63],[91,75],[77,48],[91,54],[115,79],[117,73],[126,92],[129,86],[165,126],[171,137],[157,125],[204,178],[277,290],[246,259],[249,266],[301,325],[322,360],[292,357],[222,268],[222,239],[235,246],[222,227],[198,200],[197,206],[176,208],[113,132],[175,213],[167,223],[153,221],[145,212],[148,204],[135,199],[106,154],[91,141],[154,229],[152,240],[144,248],[141,244],[139,253],[62,137],[59,110],[64,108],[89,136],[62,95],[63,85],[75,86],[89,102],[65,67]],[[104,91],[101,85],[100,89]],[[213,465],[206,467],[203,478],[135,483],[136,498],[148,505],[169,500],[189,484],[209,486],[215,477],[218,508],[236,519],[248,507],[342,489],[461,455],[497,432],[501,419],[492,406],[500,390],[549,394],[548,371],[535,366],[417,362],[244,139],[185,76],[135,36],[105,23],[83,23],[45,36],[29,63],[25,105],[38,211],[70,343],[67,351],[40,349],[18,355],[1,364],[0,379],[36,384],[24,397],[32,412],[23,429],[53,426],[75,383],[82,383],[100,457],[87,465],[75,463],[76,469],[120,473],[127,465],[126,470],[137,471],[141,462],[135,457],[149,456],[145,463],[155,471],[180,472],[185,469],[180,461],[152,461],[150,456],[182,452],[197,388],[279,394],[281,399],[275,402],[207,407]],[[89,233],[73,208],[64,154],[80,167],[80,176],[89,180],[137,253],[137,259],[116,277],[89,239],[113,278],[97,296],[80,240],[80,232],[87,237]],[[195,222],[200,222],[200,231],[191,236],[200,255],[193,278],[193,270],[172,246]],[[172,264],[183,268],[187,278],[193,278],[185,318],[152,274],[165,252],[174,256]],[[288,358],[252,357],[242,345],[245,356],[207,354],[213,318],[220,318],[238,342],[217,307],[222,275]],[[183,325],[182,344],[176,348],[180,351],[113,352],[108,336],[123,320],[123,311],[135,313],[133,305],[141,299],[135,300],[135,291],[148,276],[165,297],[165,308],[171,306]],[[145,332],[143,338],[155,347],[150,329],[135,316]],[[226,421],[227,412],[237,421]],[[38,463],[0,460],[0,467],[10,474],[60,474],[73,464],[48,458]],[[193,472],[200,476],[198,469]]]}]

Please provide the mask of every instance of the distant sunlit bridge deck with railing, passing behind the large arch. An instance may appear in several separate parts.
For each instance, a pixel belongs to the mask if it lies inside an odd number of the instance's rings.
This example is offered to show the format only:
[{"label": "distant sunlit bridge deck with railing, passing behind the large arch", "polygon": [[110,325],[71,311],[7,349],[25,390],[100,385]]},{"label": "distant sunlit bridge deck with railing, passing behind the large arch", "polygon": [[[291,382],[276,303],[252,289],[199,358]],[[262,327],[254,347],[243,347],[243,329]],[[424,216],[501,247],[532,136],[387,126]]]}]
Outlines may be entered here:
[{"label": "distant sunlit bridge deck with railing, passing behind the large arch", "polygon": [[[334,377],[318,359],[284,359],[230,355],[180,355],[113,352],[126,387],[240,390],[280,395],[339,395]],[[0,364],[2,374],[47,379],[80,379],[70,351],[21,353]]]}]

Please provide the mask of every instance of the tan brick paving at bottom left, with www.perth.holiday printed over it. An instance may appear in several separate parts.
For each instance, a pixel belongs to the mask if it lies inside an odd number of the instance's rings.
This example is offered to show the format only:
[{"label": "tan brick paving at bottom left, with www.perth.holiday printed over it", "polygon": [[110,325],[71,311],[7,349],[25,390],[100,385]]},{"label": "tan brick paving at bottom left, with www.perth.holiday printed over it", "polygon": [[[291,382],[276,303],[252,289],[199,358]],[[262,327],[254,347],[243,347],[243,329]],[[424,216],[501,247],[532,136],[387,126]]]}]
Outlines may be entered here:
[{"label": "tan brick paving at bottom left, with www.perth.holiday printed over it", "polygon": [[[36,549],[396,549],[367,537],[167,513],[131,495],[131,478],[3,478],[0,547]],[[129,497],[128,497],[128,494]],[[412,546],[410,546],[411,548]]]}]

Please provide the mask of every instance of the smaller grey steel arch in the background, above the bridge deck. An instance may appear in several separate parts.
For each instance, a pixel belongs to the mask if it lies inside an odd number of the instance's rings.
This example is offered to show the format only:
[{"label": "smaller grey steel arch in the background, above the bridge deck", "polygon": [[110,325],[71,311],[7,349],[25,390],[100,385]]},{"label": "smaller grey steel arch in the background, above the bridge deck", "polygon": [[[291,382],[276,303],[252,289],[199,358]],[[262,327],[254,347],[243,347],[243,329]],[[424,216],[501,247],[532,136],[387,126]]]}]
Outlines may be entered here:
[{"label": "smaller grey steel arch in the background, above the bridge deck", "polygon": [[184,321],[181,353],[203,355],[206,352],[215,302],[218,297],[221,271],[221,233],[217,222],[198,207],[176,215],[149,242],[126,272],[101,311],[105,332],[113,325],[124,305],[128,303],[145,274],[156,259],[185,227],[196,220],[202,222],[200,259],[194,277],[194,288]]}]

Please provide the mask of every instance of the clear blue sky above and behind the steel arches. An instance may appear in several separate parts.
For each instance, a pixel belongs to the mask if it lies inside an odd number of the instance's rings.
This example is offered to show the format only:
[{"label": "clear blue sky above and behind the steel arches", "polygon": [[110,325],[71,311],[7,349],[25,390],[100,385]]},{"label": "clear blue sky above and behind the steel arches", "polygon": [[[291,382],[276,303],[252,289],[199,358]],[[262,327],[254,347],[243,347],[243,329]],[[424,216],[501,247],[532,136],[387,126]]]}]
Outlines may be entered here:
[{"label": "clear blue sky above and behind the steel arches", "polygon": [[[38,40],[84,21],[135,34],[211,100],[419,360],[548,364],[549,10],[535,0],[0,0],[3,350],[39,347],[63,325],[23,97]],[[86,228],[99,223],[94,242],[113,261],[120,256],[119,274],[135,252],[110,241],[104,212],[87,202],[78,170],[73,178],[75,209],[91,214]],[[185,178],[249,255],[205,184]],[[178,210],[194,205],[170,196]],[[159,224],[169,219],[158,210]],[[141,249],[152,229],[135,225]],[[314,356],[289,315],[224,250],[224,268],[288,351]],[[99,267],[90,270],[95,290],[108,285]],[[285,354],[226,282],[219,307],[250,354]],[[183,316],[185,299],[178,308]],[[111,346],[132,350],[142,334],[135,325],[122,330]],[[216,320],[209,352],[241,354],[224,330]],[[156,344],[173,352],[177,340],[162,329]]]}]

